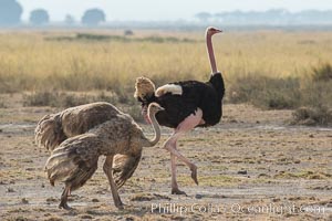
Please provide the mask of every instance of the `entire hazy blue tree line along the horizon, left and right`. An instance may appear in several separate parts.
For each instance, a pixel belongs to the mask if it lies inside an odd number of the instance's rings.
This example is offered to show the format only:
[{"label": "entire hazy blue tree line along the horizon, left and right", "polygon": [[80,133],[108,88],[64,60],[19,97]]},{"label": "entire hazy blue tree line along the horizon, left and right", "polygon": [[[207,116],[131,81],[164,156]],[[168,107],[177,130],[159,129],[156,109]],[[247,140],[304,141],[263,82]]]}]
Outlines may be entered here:
[{"label": "entire hazy blue tree line along the horizon, left and right", "polygon": [[[21,23],[22,6],[17,0],[0,0],[0,27],[12,27]],[[195,18],[201,24],[222,23],[226,25],[289,25],[289,24],[332,24],[332,10],[304,10],[290,12],[286,9],[271,9],[268,11],[230,11],[230,12],[199,12]],[[66,14],[64,23],[73,25],[97,25],[106,21],[106,15],[101,9],[89,9],[80,21]],[[33,25],[43,25],[50,22],[45,9],[35,9],[30,12],[29,22]]]}]

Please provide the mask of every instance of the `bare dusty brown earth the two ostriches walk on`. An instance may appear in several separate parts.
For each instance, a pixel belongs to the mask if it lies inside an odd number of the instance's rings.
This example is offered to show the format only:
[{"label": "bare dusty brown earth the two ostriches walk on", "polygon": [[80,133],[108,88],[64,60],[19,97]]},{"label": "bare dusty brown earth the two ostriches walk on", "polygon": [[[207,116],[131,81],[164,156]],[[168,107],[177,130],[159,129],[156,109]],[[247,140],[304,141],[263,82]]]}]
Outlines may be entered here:
[{"label": "bare dusty brown earth the two ostriches walk on", "polygon": [[[63,185],[51,187],[43,171],[49,152],[33,141],[39,118],[59,109],[0,108],[0,220],[332,220],[332,129],[290,126],[290,110],[226,105],[221,124],[198,128],[179,150],[198,167],[199,186],[179,164],[178,183],[188,196],[170,194],[172,133],[146,148],[138,169],[120,190],[117,210],[102,171],[58,209]],[[144,125],[152,134],[152,128]]]}]

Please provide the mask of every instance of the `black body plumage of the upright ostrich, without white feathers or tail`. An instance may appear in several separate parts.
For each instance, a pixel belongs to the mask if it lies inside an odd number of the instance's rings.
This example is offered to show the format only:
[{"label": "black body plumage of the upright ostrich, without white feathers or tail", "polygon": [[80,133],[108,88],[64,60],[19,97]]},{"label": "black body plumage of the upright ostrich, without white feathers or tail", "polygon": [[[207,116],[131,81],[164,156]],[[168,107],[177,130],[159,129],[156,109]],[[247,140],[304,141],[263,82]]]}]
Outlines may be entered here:
[{"label": "black body plumage of the upright ostrich, without white feathers or tail", "polygon": [[152,95],[149,97],[138,98],[143,107],[156,102],[165,110],[156,114],[159,125],[176,128],[186,117],[195,114],[199,107],[203,110],[204,125],[199,127],[214,126],[220,122],[221,99],[225,94],[225,85],[221,73],[214,74],[209,82],[184,81],[172,83],[180,85],[181,95],[166,93],[159,97]]}]

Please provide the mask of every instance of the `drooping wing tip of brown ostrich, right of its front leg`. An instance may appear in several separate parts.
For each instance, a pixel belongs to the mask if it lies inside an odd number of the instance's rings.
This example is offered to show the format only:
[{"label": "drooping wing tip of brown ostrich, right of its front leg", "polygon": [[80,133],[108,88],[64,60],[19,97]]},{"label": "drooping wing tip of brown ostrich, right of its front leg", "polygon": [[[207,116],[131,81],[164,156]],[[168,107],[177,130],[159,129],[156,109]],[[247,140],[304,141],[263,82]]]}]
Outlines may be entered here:
[{"label": "drooping wing tip of brown ostrich, right of its front leg", "polygon": [[121,188],[127,179],[129,179],[136,170],[142,156],[142,150],[135,156],[131,155],[115,155],[113,159],[113,178]]}]

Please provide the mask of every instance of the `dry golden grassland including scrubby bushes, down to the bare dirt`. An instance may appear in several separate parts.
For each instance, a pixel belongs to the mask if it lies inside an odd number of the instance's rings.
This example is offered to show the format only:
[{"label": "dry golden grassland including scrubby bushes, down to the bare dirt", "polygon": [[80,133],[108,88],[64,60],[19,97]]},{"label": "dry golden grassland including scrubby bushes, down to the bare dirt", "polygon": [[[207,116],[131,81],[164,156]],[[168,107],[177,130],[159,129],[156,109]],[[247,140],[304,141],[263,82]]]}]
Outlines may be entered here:
[{"label": "dry golden grassland including scrubby bushes, down to the bare dirt", "polygon": [[[331,32],[282,31],[226,31],[215,36],[226,101],[263,108],[331,108]],[[133,104],[137,76],[162,85],[206,81],[209,75],[203,32],[1,33],[0,67],[0,93],[25,93],[28,106],[66,107],[105,99]],[[85,95],[91,91],[112,98]],[[0,106],[6,104],[0,101]]]}]

